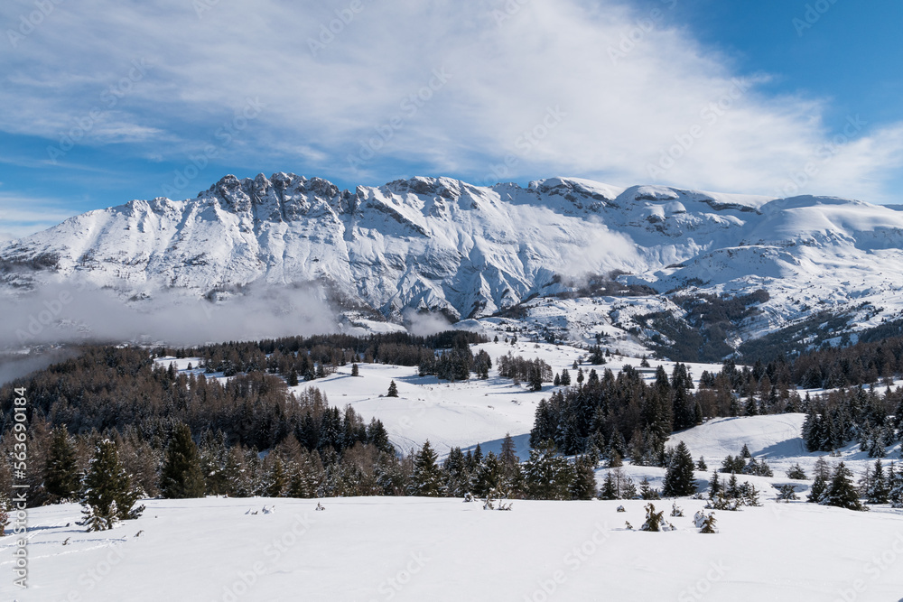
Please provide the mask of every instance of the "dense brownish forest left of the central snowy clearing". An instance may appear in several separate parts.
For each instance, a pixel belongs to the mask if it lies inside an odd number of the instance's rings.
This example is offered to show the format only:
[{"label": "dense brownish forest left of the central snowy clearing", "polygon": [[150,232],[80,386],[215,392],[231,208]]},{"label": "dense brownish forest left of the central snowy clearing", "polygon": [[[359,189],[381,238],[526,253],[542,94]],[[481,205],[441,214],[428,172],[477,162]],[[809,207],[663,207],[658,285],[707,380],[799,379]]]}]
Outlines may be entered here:
[{"label": "dense brownish forest left of the central snowy clearing", "polygon": [[[186,375],[134,347],[85,347],[79,357],[0,388],[0,449],[7,460],[15,442],[14,386],[24,387],[29,401],[32,505],[78,498],[79,475],[100,440],[116,446],[144,495],[262,493],[264,475],[275,462],[258,457],[267,449],[283,450],[274,458],[281,458],[289,480],[293,471],[320,466],[333,479],[327,480],[333,483],[330,491],[341,489],[333,465],[347,467],[352,461],[347,458],[370,468],[398,462],[382,422],[365,424],[351,407],[330,407],[316,388],[290,394],[283,378],[264,371],[228,381]],[[202,488],[196,473],[179,476],[194,462],[179,464],[172,457],[172,446],[180,441],[176,457],[200,444]],[[174,472],[167,468],[172,466]],[[9,490],[9,481],[10,464],[0,462],[0,488]]]}]

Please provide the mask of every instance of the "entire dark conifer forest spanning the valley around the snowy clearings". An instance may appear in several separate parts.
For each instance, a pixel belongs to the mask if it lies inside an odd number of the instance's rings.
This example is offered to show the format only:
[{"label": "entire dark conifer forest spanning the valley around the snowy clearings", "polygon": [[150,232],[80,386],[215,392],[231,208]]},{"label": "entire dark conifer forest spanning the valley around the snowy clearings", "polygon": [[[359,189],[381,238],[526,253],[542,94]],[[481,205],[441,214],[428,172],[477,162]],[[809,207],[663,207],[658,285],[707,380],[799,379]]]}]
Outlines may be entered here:
[{"label": "entire dark conifer forest spanning the valley around the snowy clearings", "polygon": [[[418,366],[421,375],[448,380],[471,373],[485,378],[492,358],[470,350],[484,340],[450,332],[281,338],[181,350],[84,347],[78,357],[0,388],[0,450],[7,460],[0,461],[0,491],[10,490],[12,480],[14,387],[28,392],[30,503],[80,500],[88,525],[97,529],[140,513],[133,505],[142,495],[654,499],[658,494],[648,483],[637,489],[617,472],[620,458],[666,467],[663,493],[687,495],[695,491],[693,460],[686,449],[665,449],[665,440],[712,416],[806,412],[808,449],[829,451],[857,441],[875,458],[903,439],[903,391],[889,385],[903,372],[900,337],[819,349],[793,361],[743,367],[727,361],[719,372],[703,373],[698,389],[683,364],[670,375],[659,366],[651,383],[630,366],[615,375],[601,369],[608,354],[593,347],[591,361],[600,372],[589,368],[584,376],[575,364],[576,383],[567,370],[554,375],[560,388],[538,404],[533,449],[523,460],[510,438],[498,455],[484,456],[479,446],[467,453],[452,449],[442,464],[429,444],[399,454],[380,421],[365,424],[350,406],[330,406],[314,387],[293,394],[286,385],[374,361]],[[154,362],[163,354],[200,357],[197,367],[206,374],[229,377],[185,374]],[[499,375],[535,390],[553,381],[542,359],[509,353],[497,366]],[[840,388],[801,398],[798,384]],[[615,468],[601,492],[593,474],[600,458]],[[702,465],[701,459],[697,469]],[[769,476],[770,468],[741,453],[725,458],[721,472]],[[817,472],[812,501],[855,506],[848,472]],[[856,491],[871,503],[903,505],[901,480],[897,468],[884,471],[879,461]],[[730,483],[728,488],[737,493]]]}]

